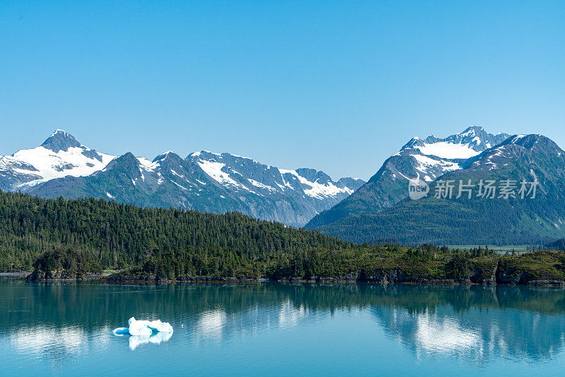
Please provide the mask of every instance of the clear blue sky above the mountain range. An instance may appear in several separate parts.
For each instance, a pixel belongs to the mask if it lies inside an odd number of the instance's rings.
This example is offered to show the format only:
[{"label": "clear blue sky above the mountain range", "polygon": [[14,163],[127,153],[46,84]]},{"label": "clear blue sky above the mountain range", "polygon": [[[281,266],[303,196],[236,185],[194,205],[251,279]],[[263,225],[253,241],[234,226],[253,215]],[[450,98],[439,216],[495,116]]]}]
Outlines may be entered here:
[{"label": "clear blue sky above the mountain range", "polygon": [[2,155],[64,128],[367,179],[469,125],[565,148],[565,1],[0,2]]}]

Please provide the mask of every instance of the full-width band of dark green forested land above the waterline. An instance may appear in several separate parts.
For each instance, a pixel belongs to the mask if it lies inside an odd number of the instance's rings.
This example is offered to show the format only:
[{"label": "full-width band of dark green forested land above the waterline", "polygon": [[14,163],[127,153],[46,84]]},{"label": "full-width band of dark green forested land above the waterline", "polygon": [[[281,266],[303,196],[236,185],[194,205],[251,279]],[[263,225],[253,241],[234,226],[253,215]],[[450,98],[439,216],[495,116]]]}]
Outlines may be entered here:
[{"label": "full-width band of dark green forested land above the waterline", "polygon": [[128,270],[160,279],[360,276],[492,282],[501,261],[507,275],[526,271],[540,280],[565,280],[564,258],[562,252],[501,257],[488,246],[452,251],[427,244],[357,245],[239,213],[0,192],[0,271],[34,270],[42,276],[57,270],[64,270],[57,276],[66,277]]}]

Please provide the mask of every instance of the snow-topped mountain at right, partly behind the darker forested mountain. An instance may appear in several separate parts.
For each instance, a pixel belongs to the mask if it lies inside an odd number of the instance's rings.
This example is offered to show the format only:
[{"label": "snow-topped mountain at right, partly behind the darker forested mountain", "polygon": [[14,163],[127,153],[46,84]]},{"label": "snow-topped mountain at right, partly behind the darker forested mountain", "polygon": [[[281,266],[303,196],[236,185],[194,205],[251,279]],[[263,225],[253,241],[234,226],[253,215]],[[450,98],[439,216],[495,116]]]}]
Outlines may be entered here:
[{"label": "snow-topped mountain at right, partly behind the darker forested mountain", "polygon": [[412,138],[400,151],[388,157],[381,169],[352,196],[316,215],[307,225],[312,229],[351,215],[378,213],[408,197],[408,179],[427,182],[462,169],[463,162],[509,138],[506,133],[487,133],[470,126],[461,133],[436,138]]}]

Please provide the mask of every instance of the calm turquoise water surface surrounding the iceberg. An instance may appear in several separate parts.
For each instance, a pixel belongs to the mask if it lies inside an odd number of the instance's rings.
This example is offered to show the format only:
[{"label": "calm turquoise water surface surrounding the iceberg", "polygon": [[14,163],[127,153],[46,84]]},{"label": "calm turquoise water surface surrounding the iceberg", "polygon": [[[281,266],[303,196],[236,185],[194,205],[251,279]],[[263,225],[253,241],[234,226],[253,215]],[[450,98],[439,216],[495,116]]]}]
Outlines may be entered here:
[{"label": "calm turquoise water surface surrounding the iceberg", "polygon": [[[113,335],[131,316],[174,333]],[[0,280],[0,328],[0,376],[559,376],[565,366],[559,288]]]}]

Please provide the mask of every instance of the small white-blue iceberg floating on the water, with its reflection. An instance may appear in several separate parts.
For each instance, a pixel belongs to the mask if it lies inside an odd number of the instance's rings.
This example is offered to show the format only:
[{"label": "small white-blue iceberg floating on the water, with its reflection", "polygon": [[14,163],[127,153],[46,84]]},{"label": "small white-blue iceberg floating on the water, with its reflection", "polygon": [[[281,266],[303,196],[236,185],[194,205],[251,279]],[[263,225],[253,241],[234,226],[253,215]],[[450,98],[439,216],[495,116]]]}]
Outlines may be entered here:
[{"label": "small white-blue iceberg floating on the water, with its reflection", "polygon": [[172,336],[172,325],[168,322],[157,321],[138,321],[135,317],[128,320],[129,327],[116,328],[112,333],[119,337],[131,335],[129,337],[129,347],[136,349],[138,345],[143,343],[167,342]]}]

